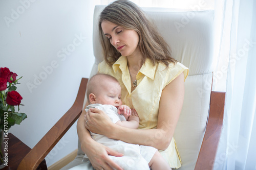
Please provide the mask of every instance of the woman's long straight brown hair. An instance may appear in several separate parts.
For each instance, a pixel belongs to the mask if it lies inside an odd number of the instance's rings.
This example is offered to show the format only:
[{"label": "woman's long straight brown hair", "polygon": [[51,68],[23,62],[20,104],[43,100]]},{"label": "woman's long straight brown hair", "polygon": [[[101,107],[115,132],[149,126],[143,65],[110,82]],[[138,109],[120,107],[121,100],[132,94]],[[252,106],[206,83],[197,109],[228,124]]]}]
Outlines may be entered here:
[{"label": "woman's long straight brown hair", "polygon": [[134,3],[127,0],[119,0],[106,6],[99,16],[99,34],[103,47],[104,59],[109,65],[113,65],[120,53],[111,45],[104,36],[101,28],[103,21],[110,21],[124,29],[134,30],[139,35],[139,49],[144,57],[150,59],[155,65],[160,62],[168,66],[176,63],[171,57],[170,48],[163,37],[157,31],[155,25],[146,17],[144,12]]}]

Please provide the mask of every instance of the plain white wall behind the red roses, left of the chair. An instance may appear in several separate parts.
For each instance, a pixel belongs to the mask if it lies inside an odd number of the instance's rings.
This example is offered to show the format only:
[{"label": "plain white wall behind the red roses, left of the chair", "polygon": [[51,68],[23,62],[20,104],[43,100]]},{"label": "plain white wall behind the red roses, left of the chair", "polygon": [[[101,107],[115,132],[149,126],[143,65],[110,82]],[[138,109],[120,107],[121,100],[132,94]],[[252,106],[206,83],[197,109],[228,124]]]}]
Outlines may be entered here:
[{"label": "plain white wall behind the red roses, left of the chair", "polygon": [[[17,91],[20,112],[11,127],[30,148],[72,106],[82,77],[94,62],[92,19],[95,1],[0,1],[0,67],[23,76]],[[48,166],[77,148],[76,123],[47,156]]]}]

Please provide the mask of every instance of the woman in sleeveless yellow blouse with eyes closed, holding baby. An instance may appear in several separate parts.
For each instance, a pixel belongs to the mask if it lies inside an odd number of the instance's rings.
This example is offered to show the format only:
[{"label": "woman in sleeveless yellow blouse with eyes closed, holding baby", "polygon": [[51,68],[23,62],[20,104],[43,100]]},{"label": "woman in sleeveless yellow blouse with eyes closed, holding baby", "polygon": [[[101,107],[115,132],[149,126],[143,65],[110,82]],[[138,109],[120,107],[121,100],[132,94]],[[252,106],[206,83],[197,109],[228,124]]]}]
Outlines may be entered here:
[{"label": "woman in sleeveless yellow blouse with eyes closed, holding baby", "polygon": [[107,6],[100,14],[99,32],[104,51],[99,72],[119,81],[123,103],[136,109],[140,125],[138,129],[118,127],[103,111],[83,111],[77,123],[82,151],[95,169],[121,169],[108,155],[122,154],[95,142],[90,130],[127,143],[155,147],[170,167],[180,167],[173,135],[188,69],[170,56],[164,39],[143,11],[130,1]]}]

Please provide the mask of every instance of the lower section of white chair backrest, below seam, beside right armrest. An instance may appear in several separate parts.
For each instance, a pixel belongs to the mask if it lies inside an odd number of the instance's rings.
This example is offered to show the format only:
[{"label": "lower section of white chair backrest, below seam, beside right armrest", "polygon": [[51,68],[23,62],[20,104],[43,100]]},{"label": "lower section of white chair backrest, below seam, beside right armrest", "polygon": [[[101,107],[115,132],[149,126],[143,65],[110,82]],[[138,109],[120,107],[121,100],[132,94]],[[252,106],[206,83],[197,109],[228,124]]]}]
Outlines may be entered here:
[{"label": "lower section of white chair backrest, below seam, beside right armrest", "polygon": [[212,73],[188,76],[185,98],[174,138],[182,165],[179,169],[194,169],[203,141],[209,111]]}]

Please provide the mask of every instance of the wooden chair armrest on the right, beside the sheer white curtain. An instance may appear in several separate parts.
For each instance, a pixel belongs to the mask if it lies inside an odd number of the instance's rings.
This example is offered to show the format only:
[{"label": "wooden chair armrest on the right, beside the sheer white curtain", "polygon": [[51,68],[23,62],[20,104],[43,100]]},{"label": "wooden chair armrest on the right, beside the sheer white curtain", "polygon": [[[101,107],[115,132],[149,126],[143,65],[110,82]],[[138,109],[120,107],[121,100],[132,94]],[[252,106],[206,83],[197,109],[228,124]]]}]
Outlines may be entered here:
[{"label": "wooden chair armrest on the right, beside the sheer white curtain", "polygon": [[195,169],[212,169],[221,136],[225,92],[211,92],[210,111]]}]

